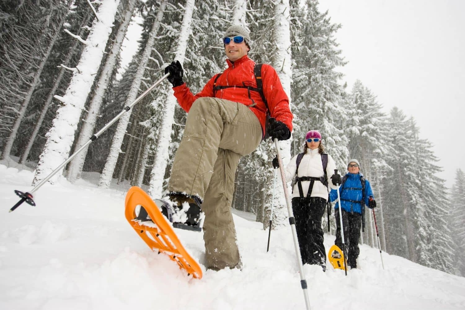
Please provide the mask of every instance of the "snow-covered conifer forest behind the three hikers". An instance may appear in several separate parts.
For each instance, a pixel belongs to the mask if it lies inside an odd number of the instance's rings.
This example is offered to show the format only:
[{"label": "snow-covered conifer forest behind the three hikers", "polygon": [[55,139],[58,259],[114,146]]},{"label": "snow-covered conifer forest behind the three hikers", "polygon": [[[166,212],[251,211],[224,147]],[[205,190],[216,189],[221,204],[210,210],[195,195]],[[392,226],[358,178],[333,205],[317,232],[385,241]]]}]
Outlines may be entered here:
[{"label": "snow-covered conifer forest behind the three hikers", "polygon": [[[121,68],[133,16],[142,20],[142,36],[129,66]],[[465,276],[464,171],[458,169],[446,188],[436,176],[442,168],[432,143],[419,137],[414,117],[400,107],[383,112],[363,81],[345,85],[338,67],[350,59],[334,39],[341,25],[320,12],[316,0],[1,1],[1,163],[35,169],[33,184],[39,183],[159,80],[173,59],[183,65],[187,86],[199,92],[226,68],[221,39],[235,24],[251,30],[249,57],[271,64],[290,98],[294,130],[280,142],[284,164],[302,152],[306,132],[318,130],[341,173],[348,159],[358,158],[370,180],[383,251]],[[160,197],[185,121],[164,81],[49,182],[74,183],[93,171],[101,188],[117,182]],[[263,141],[236,172],[233,208],[255,214],[264,229],[275,152],[270,139]],[[277,196],[273,227],[287,224],[279,186]],[[330,225],[335,231],[333,215]],[[361,239],[377,247],[371,212],[365,212]]]}]

